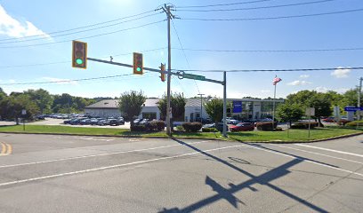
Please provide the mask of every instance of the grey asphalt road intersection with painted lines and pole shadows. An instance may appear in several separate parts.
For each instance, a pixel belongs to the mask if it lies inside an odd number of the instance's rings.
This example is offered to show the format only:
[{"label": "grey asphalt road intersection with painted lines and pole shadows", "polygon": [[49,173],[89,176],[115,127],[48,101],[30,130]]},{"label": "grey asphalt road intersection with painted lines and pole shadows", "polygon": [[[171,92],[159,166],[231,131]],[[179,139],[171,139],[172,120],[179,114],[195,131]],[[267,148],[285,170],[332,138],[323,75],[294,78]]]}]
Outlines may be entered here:
[{"label": "grey asphalt road intersection with painted lines and pole shadows", "polygon": [[362,212],[363,136],[296,145],[0,134],[0,212]]}]

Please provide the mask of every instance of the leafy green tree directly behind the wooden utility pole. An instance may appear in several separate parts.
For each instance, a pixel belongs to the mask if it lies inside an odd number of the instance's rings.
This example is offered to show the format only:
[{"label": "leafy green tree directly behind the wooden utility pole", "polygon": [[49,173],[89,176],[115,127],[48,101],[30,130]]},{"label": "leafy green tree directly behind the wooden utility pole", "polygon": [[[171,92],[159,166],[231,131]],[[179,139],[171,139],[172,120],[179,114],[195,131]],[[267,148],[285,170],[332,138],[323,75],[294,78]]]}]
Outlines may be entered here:
[{"label": "leafy green tree directly behind the wooden utility pole", "polygon": [[[172,121],[184,121],[184,113],[185,113],[185,105],[187,104],[187,100],[181,93],[173,93],[170,95],[170,106],[172,107],[173,118]],[[163,99],[160,99],[157,102],[157,107],[160,110],[161,118],[165,120],[166,118],[166,106],[167,106],[167,97],[163,96]]]}]

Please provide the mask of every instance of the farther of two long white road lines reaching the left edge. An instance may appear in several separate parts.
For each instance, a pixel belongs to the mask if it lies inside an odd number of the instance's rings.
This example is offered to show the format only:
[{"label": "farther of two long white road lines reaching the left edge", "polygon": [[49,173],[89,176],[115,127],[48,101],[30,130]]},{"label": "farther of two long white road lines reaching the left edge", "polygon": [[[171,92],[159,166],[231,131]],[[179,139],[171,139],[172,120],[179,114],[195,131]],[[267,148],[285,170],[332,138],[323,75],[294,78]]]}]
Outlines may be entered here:
[{"label": "farther of two long white road lines reaching the left edge", "polygon": [[[198,141],[198,142],[189,143],[189,145],[201,144],[201,143],[206,143],[206,142],[209,142],[209,141],[210,140]],[[33,165],[33,164],[46,163],[46,162],[61,162],[61,161],[68,161],[68,160],[82,159],[82,158],[89,158],[89,157],[99,157],[99,156],[106,156],[106,155],[112,155],[112,154],[127,154],[127,153],[148,151],[148,150],[154,150],[154,149],[160,149],[160,148],[168,148],[168,147],[173,147],[173,146],[183,146],[183,145],[175,144],[175,145],[168,145],[168,146],[157,146],[157,147],[153,147],[153,148],[143,148],[143,149],[135,149],[135,150],[129,150],[129,151],[120,151],[120,152],[114,152],[114,153],[90,154],[90,155],[83,155],[83,156],[77,156],[77,157],[60,158],[60,159],[42,161],[42,162],[25,162],[25,163],[11,164],[11,165],[3,165],[3,166],[0,166],[0,169],[1,168],[27,166],[27,165]]]}]

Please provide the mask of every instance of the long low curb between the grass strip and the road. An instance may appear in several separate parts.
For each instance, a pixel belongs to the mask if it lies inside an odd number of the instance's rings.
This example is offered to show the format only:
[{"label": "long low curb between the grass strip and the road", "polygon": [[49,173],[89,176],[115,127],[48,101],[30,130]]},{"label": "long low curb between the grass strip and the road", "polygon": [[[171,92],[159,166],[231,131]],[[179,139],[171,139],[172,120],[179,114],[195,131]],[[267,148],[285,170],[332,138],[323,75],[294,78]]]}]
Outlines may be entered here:
[{"label": "long low curb between the grass strip and the road", "polygon": [[11,131],[1,131],[0,134],[23,134],[23,135],[60,135],[60,136],[92,136],[92,137],[105,137],[105,138],[156,138],[156,139],[171,139],[171,138],[180,138],[180,139],[206,139],[206,140],[220,140],[220,141],[238,141],[244,143],[263,143],[263,144],[302,144],[302,143],[316,143],[322,141],[329,141],[340,138],[350,138],[354,136],[362,135],[363,132],[346,134],[342,136],[336,136],[331,138],[321,138],[315,140],[302,140],[302,141],[244,141],[234,138],[200,138],[200,137],[160,137],[160,136],[121,136],[121,135],[86,135],[86,134],[68,134],[68,133],[37,133],[37,132],[11,132]]}]

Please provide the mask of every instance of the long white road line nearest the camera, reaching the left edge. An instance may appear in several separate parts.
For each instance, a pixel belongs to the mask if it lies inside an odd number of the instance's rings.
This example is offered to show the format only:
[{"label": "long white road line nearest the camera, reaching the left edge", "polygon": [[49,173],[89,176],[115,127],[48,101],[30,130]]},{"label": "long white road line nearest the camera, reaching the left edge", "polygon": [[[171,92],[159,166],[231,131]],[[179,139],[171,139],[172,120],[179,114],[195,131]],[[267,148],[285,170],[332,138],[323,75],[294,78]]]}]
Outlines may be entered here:
[{"label": "long white road line nearest the camera, reaching the left edge", "polygon": [[[234,148],[234,147],[239,147],[239,146],[245,146],[245,145],[225,146],[225,147],[221,147],[221,148],[207,149],[207,150],[204,150],[203,152],[208,153],[208,152],[213,152],[213,151],[216,151],[216,150]],[[114,169],[114,168],[119,168],[119,167],[125,167],[125,166],[130,166],[130,165],[135,165],[135,164],[141,164],[141,163],[145,163],[145,162],[157,162],[157,161],[166,160],[166,159],[180,158],[180,157],[183,157],[183,156],[188,156],[188,155],[193,155],[193,154],[200,154],[200,152],[193,152],[193,153],[189,153],[189,154],[179,154],[179,155],[174,155],[174,156],[170,156],[170,157],[154,158],[154,159],[140,161],[140,162],[128,162],[128,163],[117,164],[117,165],[112,165],[112,166],[94,168],[94,169],[90,169],[90,170],[77,170],[77,171],[61,173],[61,174],[56,174],[56,175],[50,175],[50,176],[34,177],[34,178],[16,180],[16,181],[12,181],[12,182],[2,183],[2,184],[0,184],[0,186],[16,185],[16,184],[27,183],[27,182],[36,181],[36,180],[49,179],[49,178],[53,178],[53,177],[64,177],[64,176],[76,175],[76,174],[81,174],[81,173],[86,173],[86,172],[91,172],[91,171],[109,170],[109,169]]]}]

